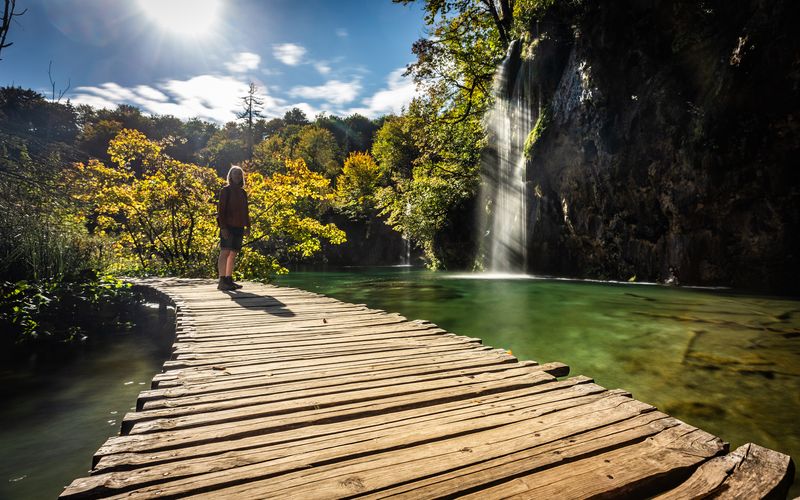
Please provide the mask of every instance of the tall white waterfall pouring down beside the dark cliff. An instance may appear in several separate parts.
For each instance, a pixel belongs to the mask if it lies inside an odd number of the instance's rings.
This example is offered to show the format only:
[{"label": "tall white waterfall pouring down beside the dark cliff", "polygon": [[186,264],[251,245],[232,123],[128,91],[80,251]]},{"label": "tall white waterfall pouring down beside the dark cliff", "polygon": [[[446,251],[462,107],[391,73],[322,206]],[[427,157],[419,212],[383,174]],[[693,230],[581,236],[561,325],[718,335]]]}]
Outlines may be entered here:
[{"label": "tall white waterfall pouring down beside the dark cliff", "polygon": [[515,40],[495,74],[494,107],[486,117],[488,153],[481,165],[481,199],[486,209],[483,249],[491,272],[525,272],[527,262],[523,150],[536,107],[530,73],[531,64],[520,57],[520,43]]}]

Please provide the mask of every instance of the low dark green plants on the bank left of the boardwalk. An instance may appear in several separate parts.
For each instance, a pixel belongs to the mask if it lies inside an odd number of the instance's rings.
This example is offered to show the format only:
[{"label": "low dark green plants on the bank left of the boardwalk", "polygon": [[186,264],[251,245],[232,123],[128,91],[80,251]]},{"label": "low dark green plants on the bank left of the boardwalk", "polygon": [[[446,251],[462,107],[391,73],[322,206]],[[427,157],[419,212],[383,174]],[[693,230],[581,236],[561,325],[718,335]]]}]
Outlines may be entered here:
[{"label": "low dark green plants on the bank left of the boardwalk", "polygon": [[0,282],[3,357],[83,341],[119,330],[137,296],[129,283],[87,274],[78,281]]}]

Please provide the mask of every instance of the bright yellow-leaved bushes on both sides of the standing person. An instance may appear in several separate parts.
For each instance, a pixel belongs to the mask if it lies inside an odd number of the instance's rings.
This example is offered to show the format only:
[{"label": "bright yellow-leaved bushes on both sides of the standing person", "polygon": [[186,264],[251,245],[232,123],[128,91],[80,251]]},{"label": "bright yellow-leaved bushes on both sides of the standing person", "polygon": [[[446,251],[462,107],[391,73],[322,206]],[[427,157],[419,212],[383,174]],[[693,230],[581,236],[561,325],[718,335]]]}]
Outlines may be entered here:
[{"label": "bright yellow-leaved bushes on both sides of the standing person", "polygon": [[[121,131],[109,144],[114,166],[80,163],[65,178],[82,201],[83,221],[112,239],[117,271],[208,276],[218,242],[215,196],[223,182],[208,168],[183,163],[135,130]],[[247,277],[268,279],[285,271],[281,258],[308,257],[321,238],[337,244],[344,232],[304,210],[330,202],[330,181],[303,160],[287,161],[285,172],[248,176],[251,235],[241,256]]]}]

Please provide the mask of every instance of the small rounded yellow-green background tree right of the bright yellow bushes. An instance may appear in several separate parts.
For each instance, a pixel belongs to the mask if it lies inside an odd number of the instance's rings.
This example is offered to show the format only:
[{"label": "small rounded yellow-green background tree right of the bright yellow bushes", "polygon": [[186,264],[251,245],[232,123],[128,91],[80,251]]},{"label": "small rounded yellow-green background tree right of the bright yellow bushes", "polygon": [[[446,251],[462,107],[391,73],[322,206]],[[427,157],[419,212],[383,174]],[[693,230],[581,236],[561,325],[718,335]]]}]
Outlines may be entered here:
[{"label": "small rounded yellow-green background tree right of the bright yellow bushes", "polygon": [[376,214],[376,194],[383,171],[369,153],[350,153],[336,178],[336,207],[351,219]]}]

